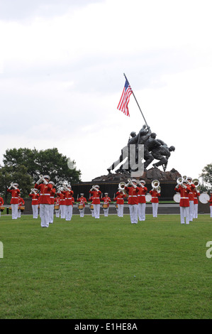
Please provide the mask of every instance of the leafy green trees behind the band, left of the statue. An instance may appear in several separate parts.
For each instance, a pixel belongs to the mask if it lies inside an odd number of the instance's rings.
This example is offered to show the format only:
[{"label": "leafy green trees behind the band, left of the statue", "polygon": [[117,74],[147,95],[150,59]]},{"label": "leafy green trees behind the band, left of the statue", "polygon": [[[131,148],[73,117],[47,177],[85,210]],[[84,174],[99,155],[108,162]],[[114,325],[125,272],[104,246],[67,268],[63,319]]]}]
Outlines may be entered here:
[{"label": "leafy green trees behind the band, left of the statue", "polygon": [[75,161],[70,161],[56,148],[40,151],[35,148],[8,149],[3,155],[3,165],[0,165],[0,193],[5,203],[11,182],[18,183],[21,197],[28,197],[40,174],[48,174],[56,188],[64,181],[70,184],[81,181],[81,171],[75,167]]}]

